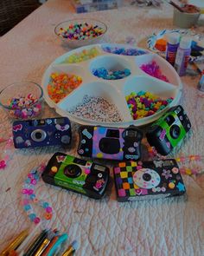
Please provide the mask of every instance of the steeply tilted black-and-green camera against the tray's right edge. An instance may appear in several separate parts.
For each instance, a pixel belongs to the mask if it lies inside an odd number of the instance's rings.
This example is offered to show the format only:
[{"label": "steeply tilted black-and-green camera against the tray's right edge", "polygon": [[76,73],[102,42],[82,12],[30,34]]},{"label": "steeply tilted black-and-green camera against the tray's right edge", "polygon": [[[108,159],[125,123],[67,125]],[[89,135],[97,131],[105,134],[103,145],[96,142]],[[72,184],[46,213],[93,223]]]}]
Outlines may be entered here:
[{"label": "steeply tilted black-and-green camera against the tray's right edge", "polygon": [[147,141],[159,154],[167,155],[182,141],[190,128],[191,123],[182,106],[175,106],[151,125],[146,134]]}]

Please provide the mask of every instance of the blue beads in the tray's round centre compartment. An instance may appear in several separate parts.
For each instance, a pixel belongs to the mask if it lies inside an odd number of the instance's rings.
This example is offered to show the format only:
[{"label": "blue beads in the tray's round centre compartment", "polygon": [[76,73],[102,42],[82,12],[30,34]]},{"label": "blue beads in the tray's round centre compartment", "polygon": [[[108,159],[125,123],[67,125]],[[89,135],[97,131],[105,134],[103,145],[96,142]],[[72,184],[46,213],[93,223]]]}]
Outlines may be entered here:
[{"label": "blue beads in the tray's round centre compartment", "polygon": [[103,78],[106,80],[118,80],[122,79],[128,75],[131,75],[130,69],[124,70],[107,70],[105,68],[92,69],[92,74],[98,76],[99,78]]}]

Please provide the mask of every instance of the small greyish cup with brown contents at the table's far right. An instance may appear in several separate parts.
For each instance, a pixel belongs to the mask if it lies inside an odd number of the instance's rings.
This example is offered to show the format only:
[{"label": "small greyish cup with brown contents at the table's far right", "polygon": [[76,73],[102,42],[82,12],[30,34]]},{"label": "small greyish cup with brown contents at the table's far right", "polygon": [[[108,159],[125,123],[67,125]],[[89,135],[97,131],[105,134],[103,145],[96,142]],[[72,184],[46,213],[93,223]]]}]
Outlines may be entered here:
[{"label": "small greyish cup with brown contents at the table's far right", "polygon": [[201,16],[201,10],[188,13],[181,12],[174,8],[173,24],[181,29],[189,29],[198,23],[199,17]]}]

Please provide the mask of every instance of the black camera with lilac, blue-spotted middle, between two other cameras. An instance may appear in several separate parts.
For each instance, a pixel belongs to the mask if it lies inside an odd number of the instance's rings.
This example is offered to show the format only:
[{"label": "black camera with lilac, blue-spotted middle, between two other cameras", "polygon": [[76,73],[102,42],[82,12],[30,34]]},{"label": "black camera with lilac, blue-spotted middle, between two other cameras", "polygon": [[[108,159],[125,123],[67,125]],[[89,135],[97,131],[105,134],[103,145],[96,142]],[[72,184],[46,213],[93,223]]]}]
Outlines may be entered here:
[{"label": "black camera with lilac, blue-spotted middle, between two other cameras", "polygon": [[141,156],[143,133],[135,126],[106,128],[81,126],[78,154],[110,160],[137,160]]}]

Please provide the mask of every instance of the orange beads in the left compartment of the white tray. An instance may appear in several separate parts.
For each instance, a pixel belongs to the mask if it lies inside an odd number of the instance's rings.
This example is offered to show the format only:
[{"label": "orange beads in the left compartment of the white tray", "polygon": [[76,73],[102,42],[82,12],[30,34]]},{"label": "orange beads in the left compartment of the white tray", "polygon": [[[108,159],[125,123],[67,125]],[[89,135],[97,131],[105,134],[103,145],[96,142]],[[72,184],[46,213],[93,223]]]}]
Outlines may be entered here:
[{"label": "orange beads in the left compartment of the white tray", "polygon": [[48,83],[48,95],[55,103],[60,102],[65,96],[76,89],[82,79],[78,75],[65,73],[52,73]]}]

